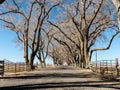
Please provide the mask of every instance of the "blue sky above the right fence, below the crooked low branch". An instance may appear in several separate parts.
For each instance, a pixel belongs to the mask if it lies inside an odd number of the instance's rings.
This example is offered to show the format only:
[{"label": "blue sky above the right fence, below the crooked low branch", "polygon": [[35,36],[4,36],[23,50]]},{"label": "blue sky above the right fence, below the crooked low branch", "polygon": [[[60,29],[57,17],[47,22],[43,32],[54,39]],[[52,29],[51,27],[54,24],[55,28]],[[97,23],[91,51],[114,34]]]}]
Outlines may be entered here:
[{"label": "blue sky above the right fence, below the crooked low branch", "polygon": [[[98,43],[103,46],[105,42]],[[116,36],[111,44],[110,49],[104,51],[97,51],[98,60],[120,60],[120,36]],[[93,53],[92,61],[96,60],[96,52]]]}]

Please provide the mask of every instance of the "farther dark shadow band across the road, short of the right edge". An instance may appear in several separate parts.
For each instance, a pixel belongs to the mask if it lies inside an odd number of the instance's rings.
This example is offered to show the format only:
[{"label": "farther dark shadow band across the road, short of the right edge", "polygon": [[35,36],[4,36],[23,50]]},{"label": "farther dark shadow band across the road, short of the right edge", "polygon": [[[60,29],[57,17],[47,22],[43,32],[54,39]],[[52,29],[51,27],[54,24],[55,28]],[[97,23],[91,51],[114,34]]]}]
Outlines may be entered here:
[{"label": "farther dark shadow band across the road, short of the right edge", "polygon": [[31,75],[21,75],[21,76],[7,76],[1,77],[0,79],[43,79],[43,78],[91,78],[96,77],[96,75],[84,74],[82,73],[45,73],[45,74],[31,74]]}]

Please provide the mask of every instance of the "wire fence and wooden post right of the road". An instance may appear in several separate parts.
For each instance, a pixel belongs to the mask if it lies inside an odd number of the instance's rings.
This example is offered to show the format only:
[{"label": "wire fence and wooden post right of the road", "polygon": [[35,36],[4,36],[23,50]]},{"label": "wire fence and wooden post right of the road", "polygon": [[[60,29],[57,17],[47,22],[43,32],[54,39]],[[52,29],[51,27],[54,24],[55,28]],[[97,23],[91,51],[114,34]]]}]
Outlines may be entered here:
[{"label": "wire fence and wooden post right of the road", "polygon": [[118,60],[99,60],[92,62],[92,70],[101,75],[120,76],[120,65]]}]

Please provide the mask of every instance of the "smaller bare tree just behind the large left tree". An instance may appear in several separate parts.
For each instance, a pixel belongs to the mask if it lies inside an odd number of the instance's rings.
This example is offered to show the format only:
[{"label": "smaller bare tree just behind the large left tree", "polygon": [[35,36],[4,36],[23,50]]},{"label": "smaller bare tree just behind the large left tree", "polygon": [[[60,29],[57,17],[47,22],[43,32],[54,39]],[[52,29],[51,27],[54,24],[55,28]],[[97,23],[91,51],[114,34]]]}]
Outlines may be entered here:
[{"label": "smaller bare tree just behind the large left tree", "polygon": [[46,66],[45,60],[48,57],[48,48],[52,39],[52,35],[49,35],[47,30],[43,29],[42,31],[40,45],[36,56],[40,61],[41,67],[43,68]]}]

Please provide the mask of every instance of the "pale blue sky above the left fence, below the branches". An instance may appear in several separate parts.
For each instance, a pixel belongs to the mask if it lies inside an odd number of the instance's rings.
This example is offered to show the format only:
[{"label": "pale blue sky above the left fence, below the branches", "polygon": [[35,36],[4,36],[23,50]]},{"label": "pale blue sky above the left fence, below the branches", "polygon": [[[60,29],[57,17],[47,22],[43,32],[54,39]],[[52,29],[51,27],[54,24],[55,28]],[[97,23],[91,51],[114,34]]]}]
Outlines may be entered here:
[{"label": "pale blue sky above the left fence, below the branches", "polygon": [[[2,28],[1,28],[2,29]],[[23,62],[23,50],[14,42],[16,35],[10,30],[0,30],[0,60]]]}]

